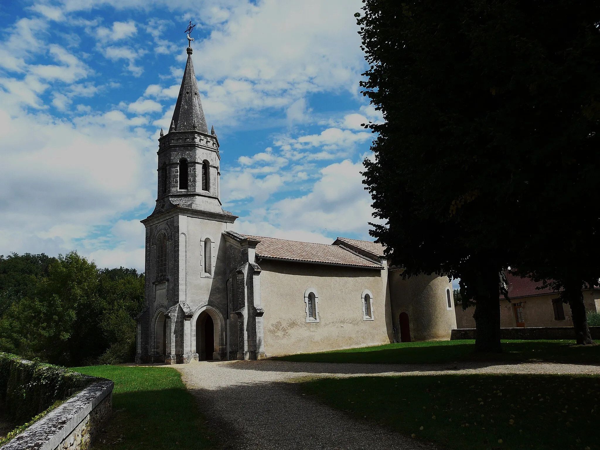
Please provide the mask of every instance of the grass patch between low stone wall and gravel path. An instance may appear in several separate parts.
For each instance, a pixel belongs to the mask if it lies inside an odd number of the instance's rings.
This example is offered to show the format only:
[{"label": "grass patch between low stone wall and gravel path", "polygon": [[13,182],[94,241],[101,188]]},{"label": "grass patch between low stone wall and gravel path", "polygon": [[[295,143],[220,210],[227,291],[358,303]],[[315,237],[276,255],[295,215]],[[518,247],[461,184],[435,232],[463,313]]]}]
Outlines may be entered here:
[{"label": "grass patch between low stone wall and gravel path", "polygon": [[94,448],[212,449],[194,398],[172,367],[98,365],[73,370],[113,380],[113,413]]}]

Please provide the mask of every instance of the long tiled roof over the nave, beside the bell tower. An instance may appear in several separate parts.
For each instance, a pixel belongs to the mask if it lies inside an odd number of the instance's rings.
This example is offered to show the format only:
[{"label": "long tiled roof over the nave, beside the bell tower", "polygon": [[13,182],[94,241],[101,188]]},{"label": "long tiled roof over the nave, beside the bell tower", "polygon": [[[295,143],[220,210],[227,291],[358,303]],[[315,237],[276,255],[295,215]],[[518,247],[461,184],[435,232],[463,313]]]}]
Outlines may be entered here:
[{"label": "long tiled roof over the nave, beside the bell tower", "polygon": [[259,244],[256,246],[256,255],[262,258],[373,269],[383,268],[379,264],[375,264],[350,251],[344,250],[337,245],[286,241],[285,239],[265,238],[263,236],[243,236],[259,241]]}]

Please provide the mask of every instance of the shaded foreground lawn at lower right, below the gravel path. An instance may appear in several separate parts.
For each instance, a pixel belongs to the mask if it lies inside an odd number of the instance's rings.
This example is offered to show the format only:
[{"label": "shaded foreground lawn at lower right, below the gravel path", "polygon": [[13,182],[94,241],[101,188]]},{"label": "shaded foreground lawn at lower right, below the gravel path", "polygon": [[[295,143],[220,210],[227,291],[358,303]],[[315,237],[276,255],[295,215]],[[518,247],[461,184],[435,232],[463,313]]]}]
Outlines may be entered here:
[{"label": "shaded foreground lawn at lower right, below the gravel path", "polygon": [[317,379],[305,394],[448,449],[600,449],[600,377],[443,375]]}]

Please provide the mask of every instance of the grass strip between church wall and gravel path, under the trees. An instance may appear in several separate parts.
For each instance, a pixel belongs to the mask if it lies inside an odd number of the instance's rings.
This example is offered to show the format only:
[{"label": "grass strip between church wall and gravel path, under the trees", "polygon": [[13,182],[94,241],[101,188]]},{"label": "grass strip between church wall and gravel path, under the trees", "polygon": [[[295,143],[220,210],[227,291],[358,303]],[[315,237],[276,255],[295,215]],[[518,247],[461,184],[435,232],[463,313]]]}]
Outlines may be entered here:
[{"label": "grass strip between church wall and gravel path, under the trees", "polygon": [[[600,344],[600,341],[596,341]],[[552,361],[600,364],[600,345],[577,346],[575,341],[502,341],[503,353],[475,353],[474,340],[385,344],[359,349],[301,353],[277,359],[301,362],[364,362],[382,364],[458,361]]]}]

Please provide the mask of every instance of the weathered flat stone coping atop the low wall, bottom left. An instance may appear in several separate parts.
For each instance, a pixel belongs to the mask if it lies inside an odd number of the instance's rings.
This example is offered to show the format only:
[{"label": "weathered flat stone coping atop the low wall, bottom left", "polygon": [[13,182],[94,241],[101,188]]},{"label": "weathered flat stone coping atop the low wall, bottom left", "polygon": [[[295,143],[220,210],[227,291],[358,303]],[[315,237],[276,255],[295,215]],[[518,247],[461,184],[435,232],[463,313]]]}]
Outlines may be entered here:
[{"label": "weathered flat stone coping atop the low wall, bottom left", "polygon": [[113,390],[111,380],[93,378],[79,394],[69,398],[1,447],[2,450],[55,450]]}]

